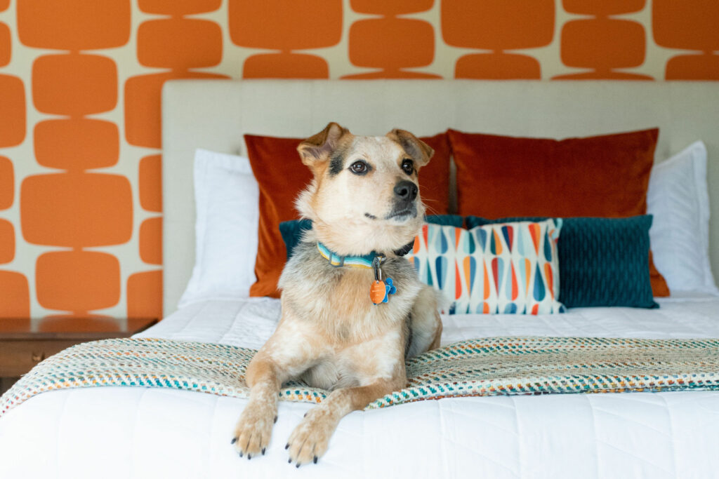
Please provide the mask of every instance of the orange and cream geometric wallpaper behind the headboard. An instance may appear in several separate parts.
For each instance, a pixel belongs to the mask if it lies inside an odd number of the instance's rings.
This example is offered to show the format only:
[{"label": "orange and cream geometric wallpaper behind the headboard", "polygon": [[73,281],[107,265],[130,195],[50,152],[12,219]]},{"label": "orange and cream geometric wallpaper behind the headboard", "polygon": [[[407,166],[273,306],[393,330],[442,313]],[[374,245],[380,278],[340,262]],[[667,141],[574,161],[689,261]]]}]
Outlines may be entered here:
[{"label": "orange and cream geometric wallpaper behind the headboard", "polygon": [[161,317],[165,80],[719,80],[717,25],[717,0],[0,0],[0,318]]}]

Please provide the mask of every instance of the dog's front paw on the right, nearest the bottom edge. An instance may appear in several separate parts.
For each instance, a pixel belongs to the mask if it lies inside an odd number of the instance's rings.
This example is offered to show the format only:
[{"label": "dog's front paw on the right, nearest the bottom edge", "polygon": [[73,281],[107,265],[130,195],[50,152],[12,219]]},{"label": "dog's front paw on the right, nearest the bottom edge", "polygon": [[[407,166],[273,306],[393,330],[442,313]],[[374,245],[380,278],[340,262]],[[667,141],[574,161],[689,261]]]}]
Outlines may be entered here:
[{"label": "dog's front paw on the right, nearest the bottom edge", "polygon": [[290,434],[285,446],[290,452],[289,462],[294,462],[298,468],[308,462],[317,463],[326,452],[329,438],[336,427],[337,420],[330,411],[321,406],[310,409]]}]

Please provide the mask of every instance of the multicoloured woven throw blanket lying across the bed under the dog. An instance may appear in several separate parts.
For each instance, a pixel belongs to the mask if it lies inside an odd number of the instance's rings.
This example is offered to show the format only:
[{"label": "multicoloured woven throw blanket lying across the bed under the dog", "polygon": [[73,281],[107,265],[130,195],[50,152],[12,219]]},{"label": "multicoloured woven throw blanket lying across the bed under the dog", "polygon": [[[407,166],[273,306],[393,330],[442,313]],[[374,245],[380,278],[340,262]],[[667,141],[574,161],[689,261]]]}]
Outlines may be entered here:
[{"label": "multicoloured woven throw blanket lying across the bed under the dog", "polygon": [[[150,338],[83,343],[47,358],[0,398],[0,416],[35,394],[141,386],[247,397],[256,350]],[[456,396],[719,390],[719,340],[507,337],[461,341],[407,361],[408,384],[367,409]],[[280,399],[329,391],[289,383]]]}]

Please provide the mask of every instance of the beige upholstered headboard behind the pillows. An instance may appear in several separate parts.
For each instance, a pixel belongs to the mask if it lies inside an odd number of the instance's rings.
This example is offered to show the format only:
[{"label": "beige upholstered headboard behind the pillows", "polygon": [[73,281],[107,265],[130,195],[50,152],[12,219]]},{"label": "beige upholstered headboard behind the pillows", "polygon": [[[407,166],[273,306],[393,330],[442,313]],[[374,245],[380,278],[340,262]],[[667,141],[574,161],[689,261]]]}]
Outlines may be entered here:
[{"label": "beige upholstered headboard behind the pillows", "polygon": [[552,138],[659,126],[658,162],[701,139],[719,277],[719,83],[174,80],[162,92],[165,315],[176,310],[194,261],[194,150],[244,154],[244,133],[304,137],[329,121],[354,134],[452,127]]}]

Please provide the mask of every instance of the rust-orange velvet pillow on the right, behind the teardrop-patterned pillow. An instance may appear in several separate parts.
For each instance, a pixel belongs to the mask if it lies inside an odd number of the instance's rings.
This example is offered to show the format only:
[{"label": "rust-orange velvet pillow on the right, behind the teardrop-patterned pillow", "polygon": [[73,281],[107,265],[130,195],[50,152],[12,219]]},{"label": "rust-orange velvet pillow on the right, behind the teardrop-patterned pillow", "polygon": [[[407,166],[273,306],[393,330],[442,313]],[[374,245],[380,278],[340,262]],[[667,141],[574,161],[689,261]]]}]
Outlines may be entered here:
[{"label": "rust-orange velvet pillow on the right, behind the teardrop-patterned pillow", "polygon": [[[483,218],[646,213],[659,129],[554,139],[468,134],[450,129],[457,164],[457,212]],[[654,296],[669,287],[649,252]]]}]

